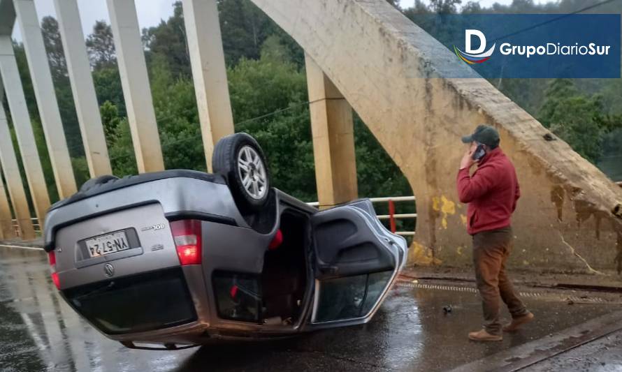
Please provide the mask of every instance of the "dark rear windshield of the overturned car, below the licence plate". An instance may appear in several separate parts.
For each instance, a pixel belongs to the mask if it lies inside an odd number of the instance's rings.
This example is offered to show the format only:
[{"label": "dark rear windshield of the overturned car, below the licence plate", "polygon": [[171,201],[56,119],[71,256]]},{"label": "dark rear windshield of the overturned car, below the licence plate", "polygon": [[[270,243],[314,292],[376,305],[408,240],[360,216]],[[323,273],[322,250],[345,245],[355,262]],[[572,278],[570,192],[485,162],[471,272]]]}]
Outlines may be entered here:
[{"label": "dark rear windshield of the overturned car, below the licence plate", "polygon": [[114,278],[63,293],[78,313],[106,334],[145,332],[196,320],[180,268]]}]

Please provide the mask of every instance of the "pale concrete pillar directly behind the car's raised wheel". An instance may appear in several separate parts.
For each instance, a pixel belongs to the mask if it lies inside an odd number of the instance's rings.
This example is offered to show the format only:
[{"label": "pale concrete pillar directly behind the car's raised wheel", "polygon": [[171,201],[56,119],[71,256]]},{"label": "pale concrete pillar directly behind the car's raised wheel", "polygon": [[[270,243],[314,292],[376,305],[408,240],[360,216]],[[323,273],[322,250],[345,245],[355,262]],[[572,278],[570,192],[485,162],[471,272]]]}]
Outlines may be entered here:
[{"label": "pale concrete pillar directly behind the car's raised wheel", "polygon": [[208,172],[216,142],[233,133],[216,0],[183,0],[194,92]]}]

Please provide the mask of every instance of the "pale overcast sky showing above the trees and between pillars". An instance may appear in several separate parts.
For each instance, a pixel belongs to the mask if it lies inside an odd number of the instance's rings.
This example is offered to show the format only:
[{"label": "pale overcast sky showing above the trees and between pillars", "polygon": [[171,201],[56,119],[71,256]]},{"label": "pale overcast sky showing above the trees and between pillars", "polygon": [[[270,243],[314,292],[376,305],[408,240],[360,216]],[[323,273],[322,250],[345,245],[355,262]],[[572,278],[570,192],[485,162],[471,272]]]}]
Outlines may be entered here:
[{"label": "pale overcast sky showing above the trees and between pillars", "polygon": [[[138,14],[138,26],[140,29],[159,24],[161,20],[167,20],[173,14],[173,2],[175,0],[135,0],[136,13]],[[46,15],[56,17],[54,10],[54,0],[35,0],[35,7],[39,19]],[[424,0],[428,2],[428,0]],[[464,1],[466,2],[466,1]],[[536,0],[537,3],[545,3],[547,0]],[[512,0],[480,0],[482,6],[491,6],[493,3],[509,4]],[[410,8],[414,0],[400,0],[402,8]],[[80,10],[80,20],[82,21],[82,31],[85,36],[91,33],[93,24],[97,20],[105,20],[110,23],[108,17],[108,7],[105,0],[78,0]],[[13,38],[22,40],[20,29],[15,24],[13,28]]]}]

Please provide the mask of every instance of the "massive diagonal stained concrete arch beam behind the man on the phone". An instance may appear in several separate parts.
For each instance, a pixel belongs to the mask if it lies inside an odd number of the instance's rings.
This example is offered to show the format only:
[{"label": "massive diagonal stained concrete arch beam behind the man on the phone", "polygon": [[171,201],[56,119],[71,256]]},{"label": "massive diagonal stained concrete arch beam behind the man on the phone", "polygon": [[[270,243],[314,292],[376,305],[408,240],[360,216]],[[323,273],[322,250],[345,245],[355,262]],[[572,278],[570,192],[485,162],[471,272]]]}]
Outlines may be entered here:
[{"label": "massive diagonal stained concrete arch beam behind the man on the phone", "polygon": [[[509,265],[622,272],[622,189],[382,0],[252,0],[320,66],[417,196],[410,262],[472,265],[461,135],[498,128],[522,198]],[[456,73],[470,78],[451,79]],[[611,270],[611,271],[607,271]]]}]

